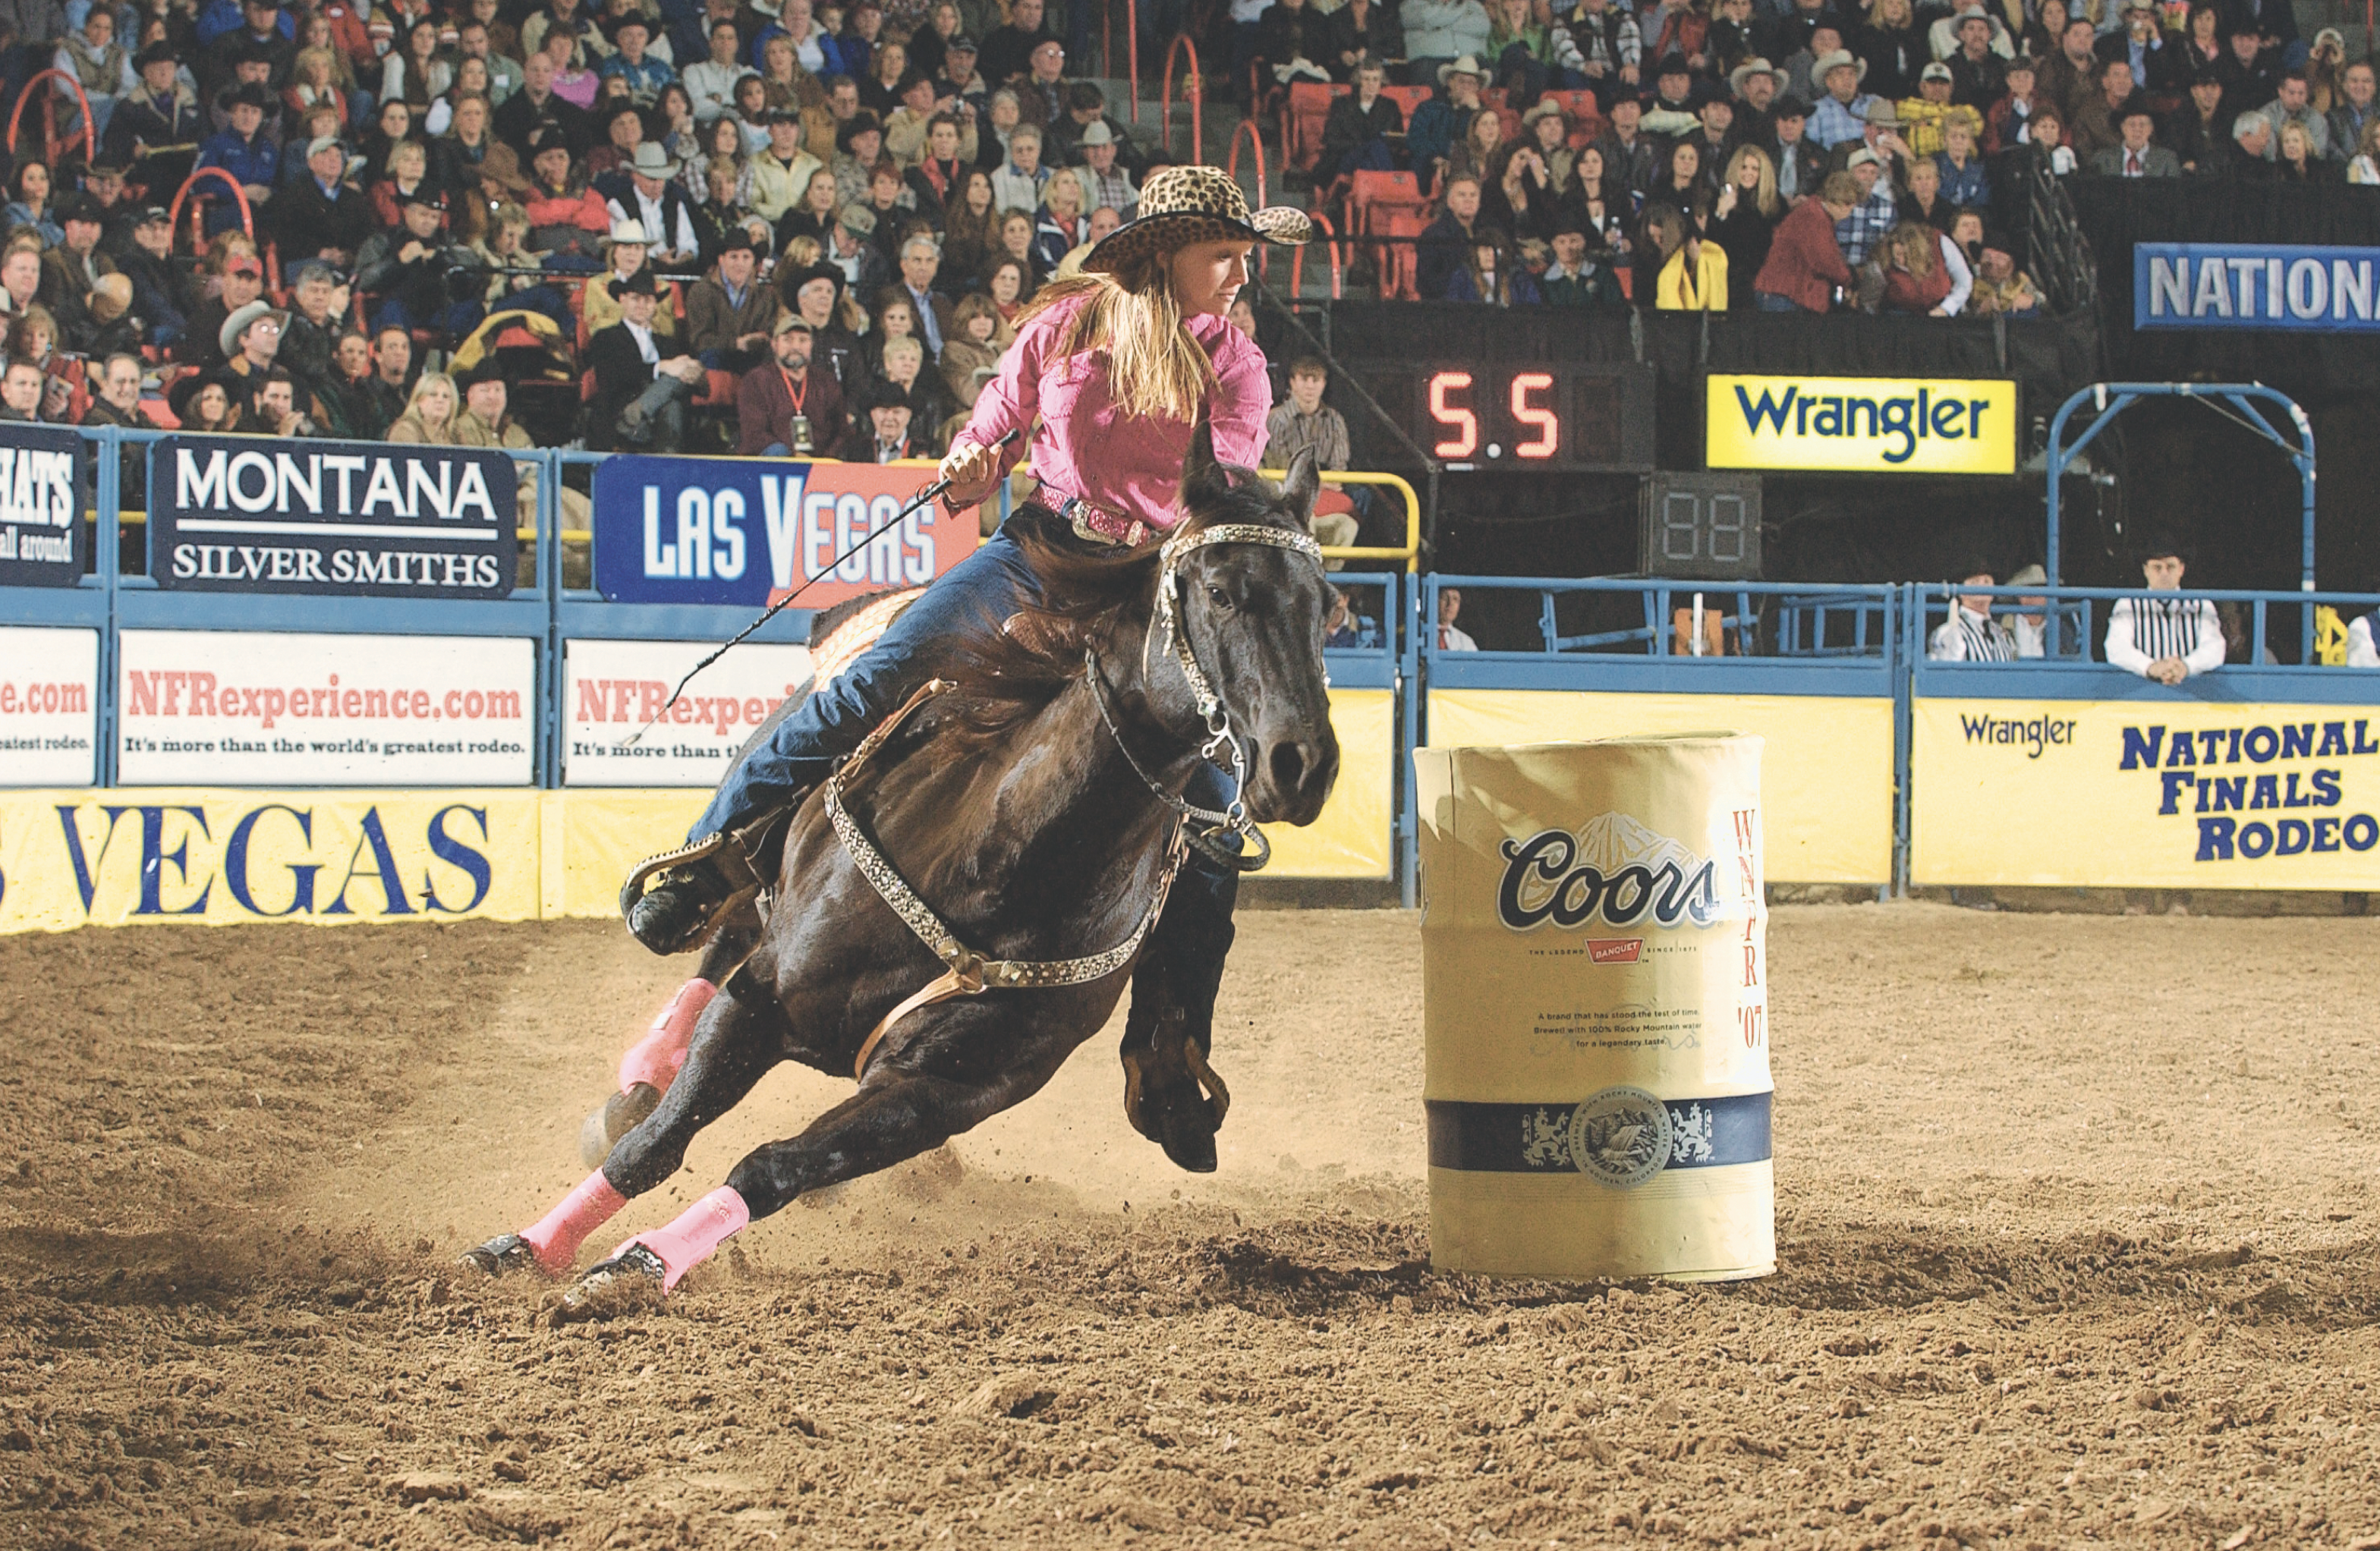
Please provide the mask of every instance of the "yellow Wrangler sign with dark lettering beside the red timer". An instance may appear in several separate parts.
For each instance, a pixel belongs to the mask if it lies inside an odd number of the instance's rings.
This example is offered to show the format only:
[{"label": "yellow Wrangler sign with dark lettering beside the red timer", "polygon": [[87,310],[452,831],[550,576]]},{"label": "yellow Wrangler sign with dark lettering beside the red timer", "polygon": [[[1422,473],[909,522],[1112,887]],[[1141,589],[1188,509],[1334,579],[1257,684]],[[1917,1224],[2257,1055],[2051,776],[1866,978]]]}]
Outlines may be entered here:
[{"label": "yellow Wrangler sign with dark lettering beside the red timer", "polygon": [[1704,461],[1816,473],[2016,473],[2016,383],[1714,371]]}]

